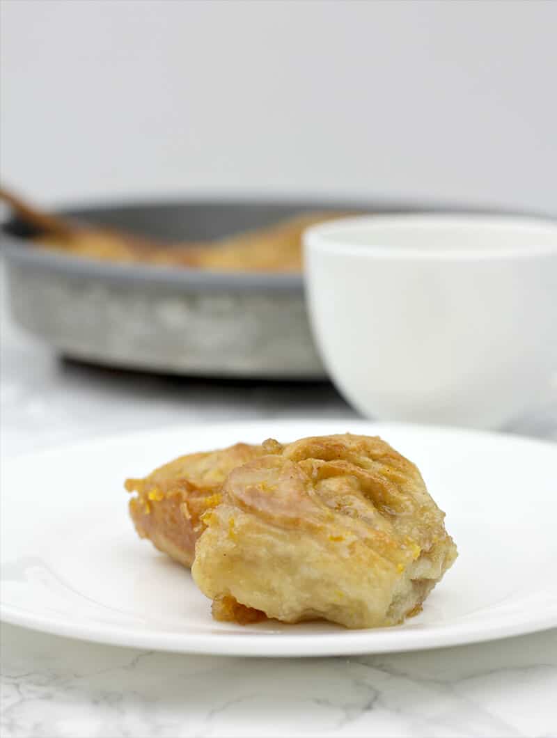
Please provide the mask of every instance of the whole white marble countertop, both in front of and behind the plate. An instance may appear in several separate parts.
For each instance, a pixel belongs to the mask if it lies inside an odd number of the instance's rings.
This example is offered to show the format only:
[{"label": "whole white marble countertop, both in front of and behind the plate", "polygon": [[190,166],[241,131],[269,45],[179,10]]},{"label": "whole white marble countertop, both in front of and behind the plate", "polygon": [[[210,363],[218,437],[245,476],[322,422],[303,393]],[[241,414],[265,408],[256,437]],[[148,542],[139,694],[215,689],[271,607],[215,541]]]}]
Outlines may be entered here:
[{"label": "whole white marble countertop, both in front of and behind the plate", "polygon": [[[57,359],[1,319],[3,455],[191,421],[355,414],[328,384],[187,381]],[[557,440],[557,401],[510,432]],[[557,630],[359,658],[215,658],[3,624],[3,738],[557,736]]]}]

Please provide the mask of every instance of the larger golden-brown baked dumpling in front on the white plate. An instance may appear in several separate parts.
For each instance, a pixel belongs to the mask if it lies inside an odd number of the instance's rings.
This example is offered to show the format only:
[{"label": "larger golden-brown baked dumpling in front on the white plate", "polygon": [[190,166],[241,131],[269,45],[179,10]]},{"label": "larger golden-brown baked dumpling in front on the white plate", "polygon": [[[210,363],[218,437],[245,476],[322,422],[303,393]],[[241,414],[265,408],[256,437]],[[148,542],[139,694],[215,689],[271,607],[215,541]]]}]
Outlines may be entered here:
[{"label": "larger golden-brown baked dumpling in front on the white plate", "polygon": [[234,469],[222,497],[193,577],[282,621],[396,624],[456,557],[420,472],[380,438],[304,438]]}]

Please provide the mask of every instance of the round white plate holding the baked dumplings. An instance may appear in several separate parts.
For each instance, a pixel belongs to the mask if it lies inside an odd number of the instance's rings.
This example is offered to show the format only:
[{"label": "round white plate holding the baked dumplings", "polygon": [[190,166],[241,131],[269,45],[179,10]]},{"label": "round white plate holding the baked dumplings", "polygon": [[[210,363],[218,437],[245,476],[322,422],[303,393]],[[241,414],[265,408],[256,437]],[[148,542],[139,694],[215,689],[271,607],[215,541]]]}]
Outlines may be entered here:
[{"label": "round white plate holding the baked dumplings", "polygon": [[[184,452],[330,432],[380,434],[418,463],[460,556],[423,613],[384,630],[211,619],[190,573],[136,537],[122,480]],[[267,421],[125,435],[4,463],[1,615],[89,641],[317,656],[485,641],[557,625],[557,449],[505,435],[361,421]]]}]

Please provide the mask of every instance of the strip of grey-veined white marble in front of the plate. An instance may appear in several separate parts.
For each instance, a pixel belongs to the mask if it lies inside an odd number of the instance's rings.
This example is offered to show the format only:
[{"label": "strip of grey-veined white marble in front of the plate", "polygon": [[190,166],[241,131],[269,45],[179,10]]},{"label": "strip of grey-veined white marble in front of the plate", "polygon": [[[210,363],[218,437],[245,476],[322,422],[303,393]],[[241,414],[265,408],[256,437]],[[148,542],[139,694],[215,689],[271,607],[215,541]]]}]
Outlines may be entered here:
[{"label": "strip of grey-veined white marble in front of the plate", "polygon": [[413,654],[241,659],[2,630],[2,735],[550,737],[557,632]]}]

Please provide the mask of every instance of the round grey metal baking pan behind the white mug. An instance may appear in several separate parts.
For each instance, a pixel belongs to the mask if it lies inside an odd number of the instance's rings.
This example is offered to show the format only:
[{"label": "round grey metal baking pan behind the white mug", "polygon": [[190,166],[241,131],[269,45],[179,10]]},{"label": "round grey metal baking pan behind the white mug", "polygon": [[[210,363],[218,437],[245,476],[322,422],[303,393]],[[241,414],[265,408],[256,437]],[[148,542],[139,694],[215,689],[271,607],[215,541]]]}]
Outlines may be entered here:
[{"label": "round grey metal baking pan behind the white mug", "polygon": [[[447,209],[353,201],[219,199],[63,212],[91,224],[172,242],[221,238],[307,210]],[[210,272],[77,258],[33,246],[29,228],[16,218],[7,221],[0,234],[15,321],[65,356],[192,376],[325,377],[305,311],[302,275]]]}]

